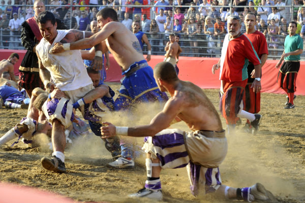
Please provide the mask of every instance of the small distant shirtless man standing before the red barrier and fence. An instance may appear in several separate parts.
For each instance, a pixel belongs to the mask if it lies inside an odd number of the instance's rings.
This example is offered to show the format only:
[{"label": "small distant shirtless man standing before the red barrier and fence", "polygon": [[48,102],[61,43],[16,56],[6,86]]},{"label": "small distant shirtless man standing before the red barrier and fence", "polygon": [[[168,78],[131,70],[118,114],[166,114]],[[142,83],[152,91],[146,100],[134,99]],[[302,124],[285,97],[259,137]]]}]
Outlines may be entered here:
[{"label": "small distant shirtless man standing before the red barrier and fence", "polygon": [[[169,35],[169,42],[165,46],[165,61],[170,62],[176,69],[177,75],[179,73],[177,63],[179,61],[179,54],[182,52],[181,47],[178,42],[176,42],[176,37],[174,34]],[[176,59],[177,58],[177,59]]]}]

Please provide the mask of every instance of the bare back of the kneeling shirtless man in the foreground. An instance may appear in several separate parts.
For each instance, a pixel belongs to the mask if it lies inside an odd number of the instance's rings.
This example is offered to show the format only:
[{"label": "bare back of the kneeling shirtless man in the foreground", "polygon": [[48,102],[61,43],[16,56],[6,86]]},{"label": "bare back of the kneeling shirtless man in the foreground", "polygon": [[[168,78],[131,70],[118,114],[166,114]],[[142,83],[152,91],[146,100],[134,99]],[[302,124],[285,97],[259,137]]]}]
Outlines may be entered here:
[{"label": "bare back of the kneeling shirtless man in the foreground", "polygon": [[214,105],[201,88],[191,82],[181,81],[173,99],[183,99],[184,105],[177,115],[192,130],[222,130],[222,123]]}]

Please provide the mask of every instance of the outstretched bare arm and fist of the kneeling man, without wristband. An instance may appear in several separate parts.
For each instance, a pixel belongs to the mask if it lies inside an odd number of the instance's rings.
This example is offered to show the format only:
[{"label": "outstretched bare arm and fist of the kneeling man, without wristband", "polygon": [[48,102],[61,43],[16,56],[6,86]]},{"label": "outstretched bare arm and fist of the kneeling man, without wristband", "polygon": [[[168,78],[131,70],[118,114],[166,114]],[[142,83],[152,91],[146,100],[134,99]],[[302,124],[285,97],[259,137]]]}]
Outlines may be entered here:
[{"label": "outstretched bare arm and fist of the kneeling man, without wristband", "polygon": [[[176,116],[182,111],[183,99],[170,98],[164,106],[163,111],[157,114],[148,125],[128,128],[128,136],[131,137],[154,137],[155,134],[167,128]],[[104,122],[108,126],[102,127],[102,138],[113,137],[116,134],[115,126]]]}]

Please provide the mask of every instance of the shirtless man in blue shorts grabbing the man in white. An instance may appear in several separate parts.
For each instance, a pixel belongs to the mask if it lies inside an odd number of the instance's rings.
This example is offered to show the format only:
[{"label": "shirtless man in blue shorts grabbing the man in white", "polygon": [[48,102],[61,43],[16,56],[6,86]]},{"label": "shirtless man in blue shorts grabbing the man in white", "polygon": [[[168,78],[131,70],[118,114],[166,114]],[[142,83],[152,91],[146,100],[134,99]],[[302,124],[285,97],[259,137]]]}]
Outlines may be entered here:
[{"label": "shirtless man in blue shorts grabbing the man in white", "polygon": [[158,89],[153,69],[144,59],[138,39],[128,28],[117,22],[116,11],[104,8],[97,13],[97,20],[101,28],[98,33],[74,43],[57,43],[52,52],[85,49],[103,42],[103,53],[107,50],[112,53],[125,76],[115,100],[118,110],[129,109],[143,101],[166,101],[168,97]]}]

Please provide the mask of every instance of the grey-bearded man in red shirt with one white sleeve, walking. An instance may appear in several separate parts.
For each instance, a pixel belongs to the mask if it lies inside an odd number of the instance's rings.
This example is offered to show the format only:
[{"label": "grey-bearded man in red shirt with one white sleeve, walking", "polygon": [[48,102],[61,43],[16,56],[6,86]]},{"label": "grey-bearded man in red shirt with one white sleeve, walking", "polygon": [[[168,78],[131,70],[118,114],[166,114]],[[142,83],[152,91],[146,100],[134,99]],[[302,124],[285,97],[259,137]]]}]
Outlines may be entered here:
[{"label": "grey-bearded man in red shirt with one white sleeve, walking", "polygon": [[242,97],[248,81],[247,66],[249,61],[254,64],[255,69],[255,80],[251,88],[254,92],[260,91],[261,61],[251,41],[240,33],[241,20],[239,16],[230,15],[227,23],[229,33],[225,36],[221,58],[212,67],[213,74],[215,74],[215,70],[221,68],[220,111],[226,119],[229,133],[234,133],[238,117],[249,119],[254,129],[258,130],[262,116],[242,110]]}]

